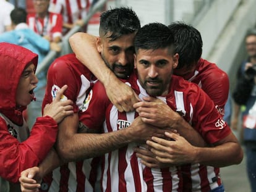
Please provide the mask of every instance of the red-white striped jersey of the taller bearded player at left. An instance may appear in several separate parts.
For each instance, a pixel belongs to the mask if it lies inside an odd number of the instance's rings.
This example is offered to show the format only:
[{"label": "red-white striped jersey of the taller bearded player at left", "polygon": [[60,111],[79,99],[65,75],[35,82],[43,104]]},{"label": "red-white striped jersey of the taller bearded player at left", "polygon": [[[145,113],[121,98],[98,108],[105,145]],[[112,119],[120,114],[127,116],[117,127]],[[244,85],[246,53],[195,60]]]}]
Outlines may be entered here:
[{"label": "red-white striped jersey of the taller bearded player at left", "polygon": [[[43,106],[53,101],[59,88],[68,85],[65,97],[74,102],[74,112],[79,112],[79,121],[85,123],[85,98],[94,80],[93,74],[75,58],[75,54],[59,57],[48,70]],[[42,191],[93,191],[96,179],[96,168],[93,167],[98,165],[96,161],[86,159],[58,167],[43,179]]]}]

